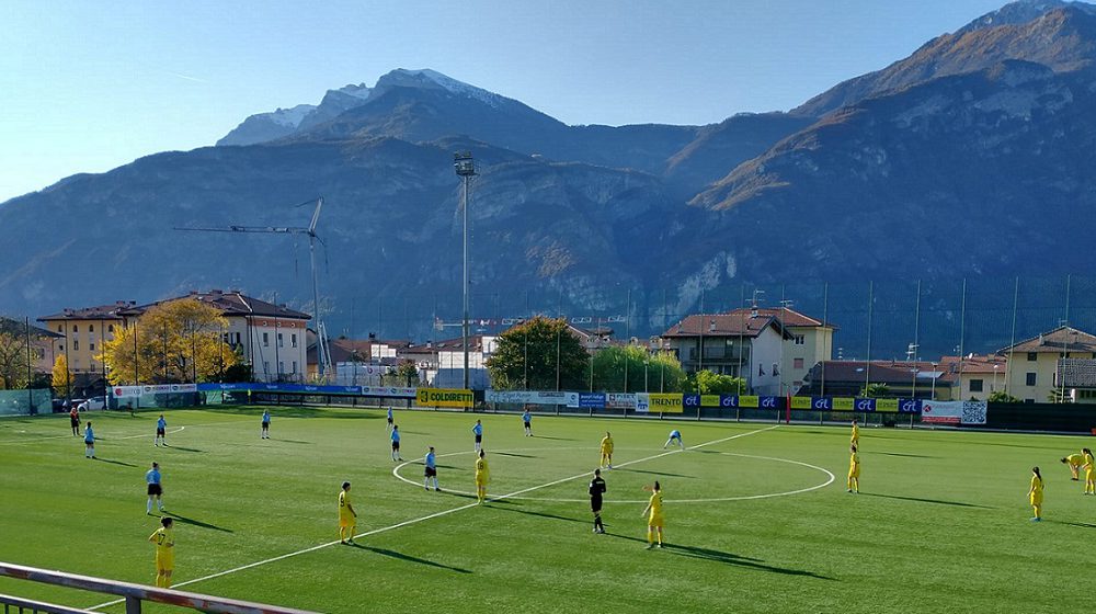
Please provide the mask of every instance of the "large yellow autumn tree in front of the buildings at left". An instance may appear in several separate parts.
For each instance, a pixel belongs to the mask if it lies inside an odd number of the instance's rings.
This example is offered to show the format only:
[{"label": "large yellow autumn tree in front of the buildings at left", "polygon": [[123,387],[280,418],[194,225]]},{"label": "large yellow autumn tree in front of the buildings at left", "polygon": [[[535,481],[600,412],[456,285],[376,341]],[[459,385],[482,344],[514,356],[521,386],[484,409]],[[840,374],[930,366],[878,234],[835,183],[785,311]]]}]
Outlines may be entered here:
[{"label": "large yellow autumn tree in front of the buildings at left", "polygon": [[96,360],[111,384],[212,382],[239,360],[221,336],[220,311],[193,298],[149,308],[134,326],[116,329]]}]

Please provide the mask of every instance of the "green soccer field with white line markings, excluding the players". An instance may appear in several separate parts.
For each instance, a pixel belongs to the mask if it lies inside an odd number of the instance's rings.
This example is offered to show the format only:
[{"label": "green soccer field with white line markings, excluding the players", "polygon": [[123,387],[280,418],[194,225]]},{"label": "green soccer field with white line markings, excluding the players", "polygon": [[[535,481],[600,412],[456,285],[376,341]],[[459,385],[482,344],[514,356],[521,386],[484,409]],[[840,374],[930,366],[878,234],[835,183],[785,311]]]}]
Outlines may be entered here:
[{"label": "green soccer field with white line markings, excluding the players", "polygon": [[[861,493],[845,492],[847,427],[397,410],[392,462],[377,410],[273,408],[0,420],[0,560],[152,583],[144,474],[163,473],[174,588],[327,613],[1066,612],[1088,605],[1096,497],[1059,458],[1088,437],[863,429]],[[484,425],[489,493],[472,496]],[[681,429],[684,452],[663,451]],[[616,443],[603,518],[586,485]],[[422,487],[438,454],[443,492]],[[1046,478],[1029,522],[1030,468]],[[352,482],[357,546],[338,544]],[[406,480],[406,481],[404,481]],[[648,494],[666,547],[647,550]],[[364,534],[364,535],[363,535]],[[0,578],[0,592],[89,607],[109,596]],[[122,612],[121,605],[104,612]],[[147,612],[168,612],[146,604]]]}]

